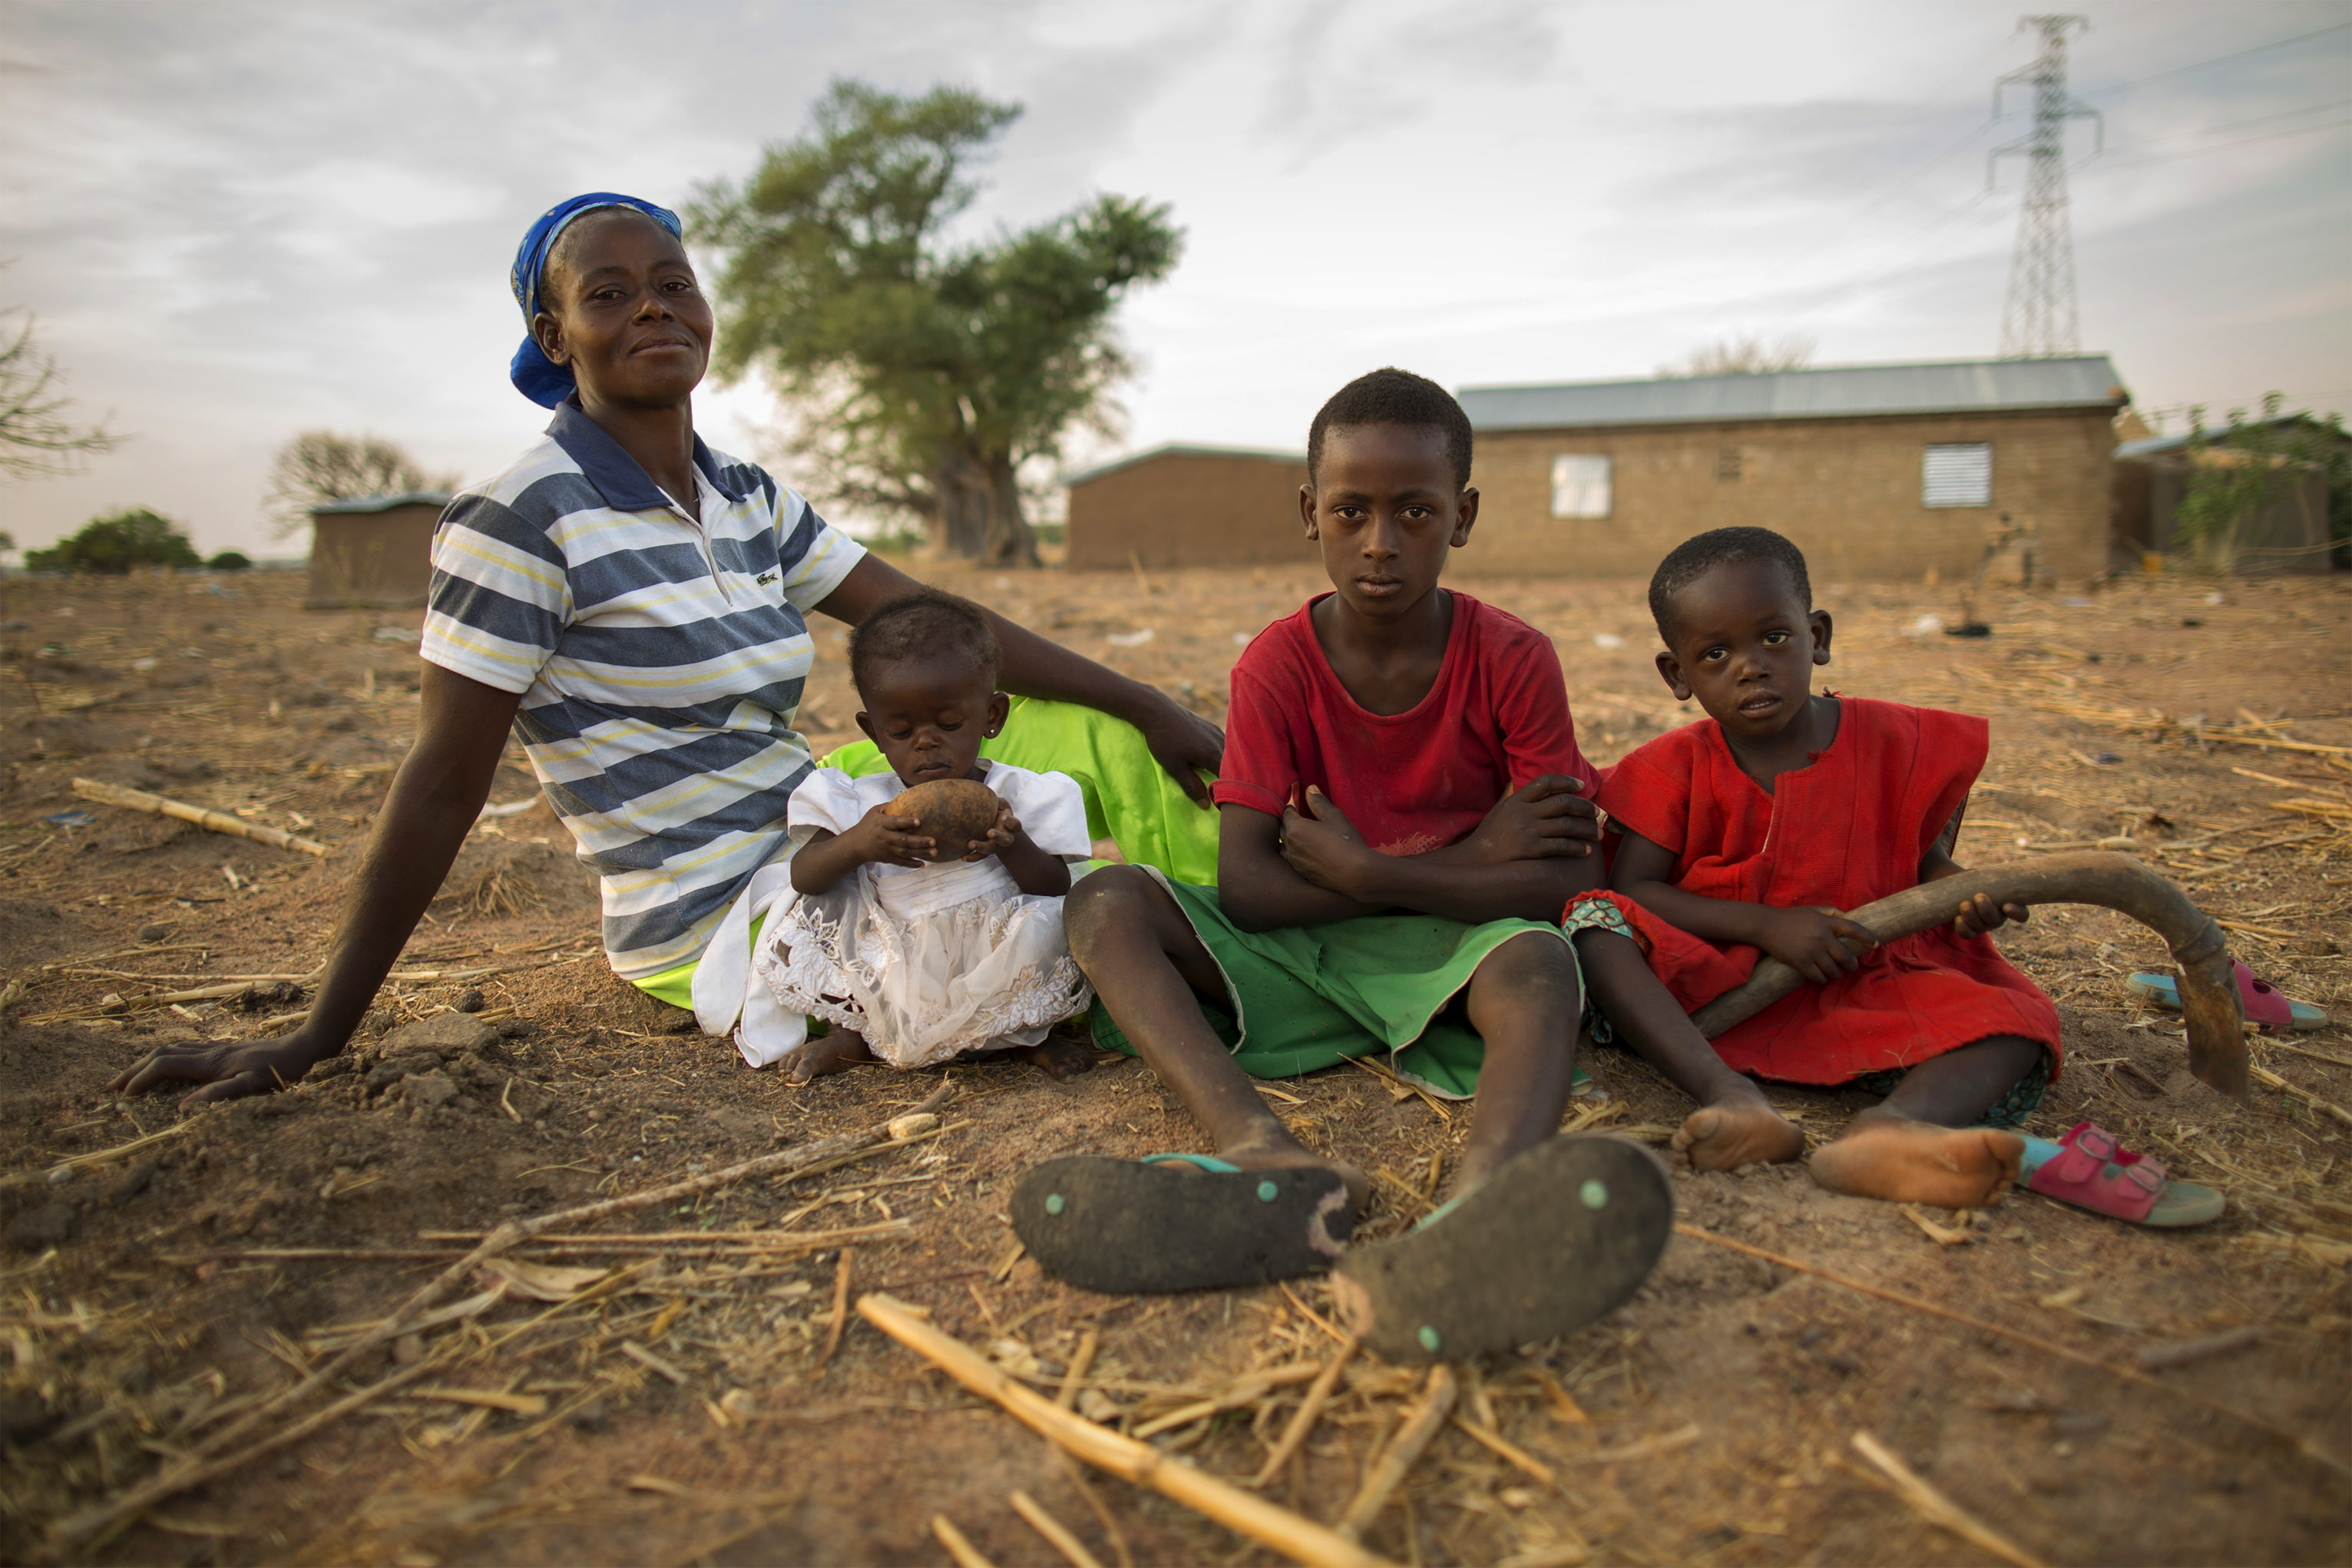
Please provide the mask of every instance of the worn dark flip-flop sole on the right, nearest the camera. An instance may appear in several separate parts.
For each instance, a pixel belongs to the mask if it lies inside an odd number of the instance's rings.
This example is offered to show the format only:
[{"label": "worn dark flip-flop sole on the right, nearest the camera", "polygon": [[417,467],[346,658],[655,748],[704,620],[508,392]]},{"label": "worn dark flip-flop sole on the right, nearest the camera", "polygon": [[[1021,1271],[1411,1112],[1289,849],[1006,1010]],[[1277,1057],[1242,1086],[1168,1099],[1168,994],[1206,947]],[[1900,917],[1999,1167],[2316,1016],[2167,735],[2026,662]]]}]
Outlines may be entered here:
[{"label": "worn dark flip-flop sole on the right, nearest the camera", "polygon": [[1552,1138],[1418,1229],[1359,1246],[1331,1276],[1364,1345],[1390,1361],[1463,1361],[1550,1340],[1630,1298],[1675,1227],[1656,1154]]}]

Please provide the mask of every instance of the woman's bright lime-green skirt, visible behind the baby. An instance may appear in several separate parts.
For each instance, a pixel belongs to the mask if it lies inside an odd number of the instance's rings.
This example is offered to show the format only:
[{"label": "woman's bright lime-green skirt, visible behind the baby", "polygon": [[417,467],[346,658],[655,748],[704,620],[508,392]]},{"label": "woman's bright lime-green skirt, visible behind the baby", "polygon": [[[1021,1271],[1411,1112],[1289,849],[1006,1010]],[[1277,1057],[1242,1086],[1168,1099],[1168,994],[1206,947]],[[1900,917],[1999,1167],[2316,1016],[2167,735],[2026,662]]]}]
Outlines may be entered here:
[{"label": "woman's bright lime-green skirt, visible behind the baby", "polygon": [[[981,757],[1068,773],[1087,795],[1087,837],[1112,839],[1129,865],[1157,865],[1176,882],[1216,882],[1216,811],[1192,804],[1127,719],[1016,696],[1004,733],[983,741]],[[873,741],[854,741],[818,766],[863,778],[889,764]]]}]

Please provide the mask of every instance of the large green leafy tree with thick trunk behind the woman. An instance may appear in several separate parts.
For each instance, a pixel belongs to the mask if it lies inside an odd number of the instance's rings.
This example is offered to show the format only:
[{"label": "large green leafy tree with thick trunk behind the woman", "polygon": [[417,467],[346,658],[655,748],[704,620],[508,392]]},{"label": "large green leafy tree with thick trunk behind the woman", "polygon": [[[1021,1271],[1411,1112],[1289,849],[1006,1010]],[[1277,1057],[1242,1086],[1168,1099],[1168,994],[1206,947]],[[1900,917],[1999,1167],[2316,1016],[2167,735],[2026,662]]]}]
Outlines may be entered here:
[{"label": "large green leafy tree with thick trunk behind the woman", "polygon": [[717,369],[771,378],[821,494],[1000,567],[1037,562],[1021,465],[1058,458],[1073,428],[1110,433],[1108,393],[1134,369],[1110,317],[1183,247],[1164,205],[1122,195],[950,244],[971,165],[1018,115],[960,87],[835,80],[809,134],[694,207],[696,240],[724,252]]}]

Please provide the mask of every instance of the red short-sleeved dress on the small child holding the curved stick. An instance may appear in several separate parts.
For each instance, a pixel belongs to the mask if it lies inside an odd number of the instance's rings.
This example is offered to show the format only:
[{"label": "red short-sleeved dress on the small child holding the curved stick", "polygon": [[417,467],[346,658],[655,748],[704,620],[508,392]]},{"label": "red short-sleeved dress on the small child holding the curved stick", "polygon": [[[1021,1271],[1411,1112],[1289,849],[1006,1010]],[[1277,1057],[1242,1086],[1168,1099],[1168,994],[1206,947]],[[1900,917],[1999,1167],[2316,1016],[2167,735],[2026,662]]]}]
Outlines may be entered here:
[{"label": "red short-sleeved dress on the small child holding the curved stick", "polygon": [[[1837,738],[1764,792],[1715,719],[1658,736],[1609,773],[1599,804],[1675,853],[1675,886],[1780,910],[1856,910],[1919,884],[1919,858],[1985,766],[1985,722],[1964,712],[1839,698]],[[1719,947],[1616,898],[1651,969],[1696,1011],[1740,985],[1757,947]],[[1806,985],[1715,1039],[1740,1072],[1846,1084],[1910,1067],[1990,1034],[2020,1034],[2058,1063],[2058,1009],[1990,938],[1950,926],[1863,954],[1830,985]]]}]

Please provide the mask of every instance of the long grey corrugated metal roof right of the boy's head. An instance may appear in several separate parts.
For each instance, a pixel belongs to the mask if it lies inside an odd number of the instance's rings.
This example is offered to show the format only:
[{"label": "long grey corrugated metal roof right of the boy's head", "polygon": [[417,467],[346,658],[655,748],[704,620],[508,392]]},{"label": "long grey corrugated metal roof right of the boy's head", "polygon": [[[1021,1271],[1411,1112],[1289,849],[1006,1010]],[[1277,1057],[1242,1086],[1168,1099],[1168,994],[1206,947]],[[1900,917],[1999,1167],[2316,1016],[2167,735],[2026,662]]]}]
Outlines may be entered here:
[{"label": "long grey corrugated metal roof right of the boy's head", "polygon": [[2105,409],[2129,402],[2107,355],[1835,364],[1755,376],[1661,376],[1562,386],[1465,386],[1458,395],[1472,430]]}]

